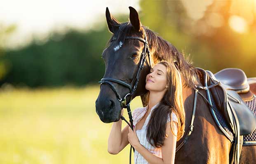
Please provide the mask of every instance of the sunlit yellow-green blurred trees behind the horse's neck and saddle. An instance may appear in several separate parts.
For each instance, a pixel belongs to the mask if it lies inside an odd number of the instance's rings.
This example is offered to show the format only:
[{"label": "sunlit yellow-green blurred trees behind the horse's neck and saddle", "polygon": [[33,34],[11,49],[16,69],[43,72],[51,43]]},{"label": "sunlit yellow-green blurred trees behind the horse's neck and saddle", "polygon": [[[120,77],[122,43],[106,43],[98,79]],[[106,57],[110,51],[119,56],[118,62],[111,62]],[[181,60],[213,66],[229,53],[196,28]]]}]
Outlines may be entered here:
[{"label": "sunlit yellow-green blurred trees behind the horse's neck and saddle", "polygon": [[190,54],[194,66],[213,73],[240,68],[256,77],[256,3],[142,0],[140,16],[143,25]]}]

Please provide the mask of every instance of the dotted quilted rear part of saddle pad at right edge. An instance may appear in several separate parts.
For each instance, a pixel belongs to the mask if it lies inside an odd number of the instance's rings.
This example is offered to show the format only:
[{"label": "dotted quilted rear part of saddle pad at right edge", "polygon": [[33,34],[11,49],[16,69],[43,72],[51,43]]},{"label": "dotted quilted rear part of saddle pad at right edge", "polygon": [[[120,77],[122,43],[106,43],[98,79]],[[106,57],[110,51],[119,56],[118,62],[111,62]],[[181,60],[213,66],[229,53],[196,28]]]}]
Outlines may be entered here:
[{"label": "dotted quilted rear part of saddle pad at right edge", "polygon": [[[251,109],[251,112],[256,116],[256,96],[254,95],[254,99],[251,101],[245,102],[245,104]],[[256,145],[256,130],[251,134],[244,135],[244,143],[243,146],[255,146]]]}]

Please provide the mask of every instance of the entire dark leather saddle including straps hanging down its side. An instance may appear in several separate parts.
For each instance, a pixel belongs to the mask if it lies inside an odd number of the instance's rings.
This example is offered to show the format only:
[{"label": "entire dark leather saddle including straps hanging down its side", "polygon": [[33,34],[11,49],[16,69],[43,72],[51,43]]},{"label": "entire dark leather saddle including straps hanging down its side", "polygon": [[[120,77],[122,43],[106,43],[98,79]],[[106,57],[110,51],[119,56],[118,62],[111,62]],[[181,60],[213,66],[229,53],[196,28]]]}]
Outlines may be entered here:
[{"label": "entire dark leather saddle including straps hanging down its side", "polygon": [[[244,100],[251,100],[251,96],[254,98],[253,93],[249,91],[250,86],[247,77],[242,70],[237,68],[226,68],[215,75],[202,68],[197,67],[197,69],[202,74],[201,80],[204,87],[201,89],[206,90],[211,114],[218,128],[228,137],[226,131],[219,124],[214,110],[219,110],[223,114],[226,123],[233,131],[234,139],[231,141],[230,163],[238,164],[243,135],[250,134],[256,129],[256,117],[244,103]],[[214,109],[212,106],[211,98],[218,109]]]}]

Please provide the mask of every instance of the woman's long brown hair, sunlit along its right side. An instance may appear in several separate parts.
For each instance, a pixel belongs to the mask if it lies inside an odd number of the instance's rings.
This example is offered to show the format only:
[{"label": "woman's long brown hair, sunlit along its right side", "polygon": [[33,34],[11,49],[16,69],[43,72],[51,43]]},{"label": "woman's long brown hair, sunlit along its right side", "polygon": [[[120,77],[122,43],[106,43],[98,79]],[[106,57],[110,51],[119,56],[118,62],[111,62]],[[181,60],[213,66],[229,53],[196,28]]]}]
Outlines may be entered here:
[{"label": "woman's long brown hair, sunlit along its right side", "polygon": [[[171,116],[171,112],[174,112],[178,118],[177,141],[183,137],[185,130],[185,110],[182,98],[181,74],[178,72],[174,64],[170,64],[167,61],[161,61],[158,64],[163,64],[167,68],[168,90],[164,93],[164,96],[158,106],[152,111],[148,123],[147,140],[152,146],[160,148],[164,145],[167,117],[168,114]],[[146,93],[146,105],[148,105],[149,94],[150,91]],[[176,135],[172,128],[171,132]]]}]

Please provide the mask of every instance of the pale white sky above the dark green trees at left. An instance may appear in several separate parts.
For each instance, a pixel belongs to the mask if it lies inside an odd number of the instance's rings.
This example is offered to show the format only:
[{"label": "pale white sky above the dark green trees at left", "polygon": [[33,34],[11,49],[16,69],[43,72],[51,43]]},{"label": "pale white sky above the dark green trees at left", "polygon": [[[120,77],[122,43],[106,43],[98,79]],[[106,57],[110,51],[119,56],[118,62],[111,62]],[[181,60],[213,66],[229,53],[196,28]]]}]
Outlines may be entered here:
[{"label": "pale white sky above the dark green trees at left", "polygon": [[106,19],[106,7],[111,14],[129,14],[129,6],[140,11],[139,0],[0,0],[0,28],[17,27],[4,46],[24,46],[33,36],[44,39],[66,27],[90,29]]}]

